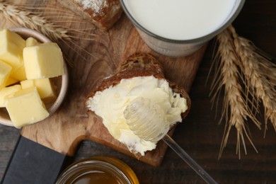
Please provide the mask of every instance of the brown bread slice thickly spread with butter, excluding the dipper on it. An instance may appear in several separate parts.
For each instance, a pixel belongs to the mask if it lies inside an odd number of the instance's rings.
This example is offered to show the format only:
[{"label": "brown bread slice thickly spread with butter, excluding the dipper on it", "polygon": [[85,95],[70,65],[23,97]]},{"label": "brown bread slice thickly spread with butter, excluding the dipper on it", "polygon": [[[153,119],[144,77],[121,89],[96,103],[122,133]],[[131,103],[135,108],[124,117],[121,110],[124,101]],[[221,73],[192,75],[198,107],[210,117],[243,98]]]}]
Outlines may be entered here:
[{"label": "brown bread slice thickly spread with butter, excluding the dipper on it", "polygon": [[126,125],[123,111],[137,96],[158,102],[166,112],[170,129],[188,115],[191,101],[184,88],[165,78],[159,61],[146,53],[131,55],[114,74],[98,83],[86,98],[88,112],[100,116],[110,134],[139,159],[146,151],[155,149],[156,142],[135,138]]}]

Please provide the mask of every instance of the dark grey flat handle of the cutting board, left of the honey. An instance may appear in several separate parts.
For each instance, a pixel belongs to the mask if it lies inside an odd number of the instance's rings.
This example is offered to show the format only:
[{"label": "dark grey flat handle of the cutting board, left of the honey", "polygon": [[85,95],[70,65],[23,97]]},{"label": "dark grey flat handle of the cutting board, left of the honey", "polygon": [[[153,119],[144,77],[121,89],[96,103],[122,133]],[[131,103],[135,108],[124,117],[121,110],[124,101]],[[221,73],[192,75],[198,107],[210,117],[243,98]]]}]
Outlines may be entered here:
[{"label": "dark grey flat handle of the cutting board, left of the honey", "polygon": [[71,159],[70,156],[20,136],[1,183],[55,183]]}]

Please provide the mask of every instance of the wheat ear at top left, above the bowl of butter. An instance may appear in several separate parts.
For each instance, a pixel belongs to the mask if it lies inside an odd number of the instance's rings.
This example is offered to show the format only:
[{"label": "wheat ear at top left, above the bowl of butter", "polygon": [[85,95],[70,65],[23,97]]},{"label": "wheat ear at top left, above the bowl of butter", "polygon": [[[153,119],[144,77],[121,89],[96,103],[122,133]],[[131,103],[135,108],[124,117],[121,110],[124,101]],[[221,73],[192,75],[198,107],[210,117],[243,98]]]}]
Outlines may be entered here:
[{"label": "wheat ear at top left, above the bowl of butter", "polygon": [[[64,43],[71,50],[75,51],[77,49],[81,52],[85,52],[90,56],[93,56],[91,52],[88,52],[84,50],[81,46],[79,46],[79,44],[77,44],[74,39],[81,38],[82,40],[93,40],[94,35],[89,33],[89,31],[93,30],[94,27],[88,30],[77,30],[66,26],[54,24],[54,22],[57,22],[54,21],[54,15],[48,16],[49,18],[53,18],[51,21],[49,21],[47,19],[47,16],[42,16],[41,13],[33,13],[31,11],[28,11],[28,9],[45,10],[45,8],[34,8],[32,6],[16,6],[8,4],[4,0],[0,0],[0,13],[2,13],[8,21],[11,21],[11,23],[14,23],[15,25],[21,25],[25,28],[37,30],[54,42]],[[55,14],[57,12],[61,12],[61,10],[58,8],[51,7],[51,9],[52,12],[54,12]],[[64,15],[64,17],[68,16],[69,14]],[[81,23],[83,21],[81,18],[77,18],[76,16],[72,19],[75,19],[74,21],[78,23]],[[76,49],[73,48],[71,45],[76,47]],[[85,59],[82,54],[80,54],[79,52],[76,53],[78,53],[80,57],[83,57],[83,59]]]}]

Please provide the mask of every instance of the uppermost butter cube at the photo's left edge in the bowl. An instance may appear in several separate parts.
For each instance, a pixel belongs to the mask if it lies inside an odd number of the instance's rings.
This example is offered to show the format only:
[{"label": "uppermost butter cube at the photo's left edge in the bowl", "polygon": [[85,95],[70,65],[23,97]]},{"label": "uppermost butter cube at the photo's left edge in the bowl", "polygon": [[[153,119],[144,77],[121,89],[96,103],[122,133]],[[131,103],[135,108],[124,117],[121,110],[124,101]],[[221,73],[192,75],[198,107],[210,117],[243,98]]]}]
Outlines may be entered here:
[{"label": "uppermost butter cube at the photo's left edge in the bowl", "polygon": [[23,65],[23,48],[25,40],[10,30],[0,31],[0,59],[17,70]]}]

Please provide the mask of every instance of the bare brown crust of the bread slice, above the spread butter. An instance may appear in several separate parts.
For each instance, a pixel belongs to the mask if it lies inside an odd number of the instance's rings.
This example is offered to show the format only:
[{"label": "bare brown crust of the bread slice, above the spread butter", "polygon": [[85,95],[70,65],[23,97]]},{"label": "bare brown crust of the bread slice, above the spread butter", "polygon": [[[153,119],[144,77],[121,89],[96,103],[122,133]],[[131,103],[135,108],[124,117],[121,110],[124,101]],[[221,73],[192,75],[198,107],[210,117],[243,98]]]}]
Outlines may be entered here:
[{"label": "bare brown crust of the bread slice, above the spread butter", "polygon": [[[96,86],[94,91],[91,91],[87,99],[93,97],[97,91],[103,91],[110,86],[119,84],[122,79],[130,79],[136,76],[154,76],[156,79],[166,79],[163,74],[163,68],[155,57],[147,53],[135,53],[125,59],[114,74],[99,81],[98,86]],[[166,81],[168,80],[166,79]],[[173,89],[173,92],[179,93],[181,97],[187,100],[188,110],[181,114],[184,119],[190,111],[190,97],[183,87],[171,81],[168,81],[168,84]]]}]

